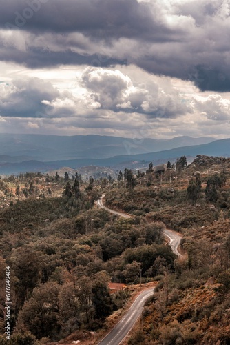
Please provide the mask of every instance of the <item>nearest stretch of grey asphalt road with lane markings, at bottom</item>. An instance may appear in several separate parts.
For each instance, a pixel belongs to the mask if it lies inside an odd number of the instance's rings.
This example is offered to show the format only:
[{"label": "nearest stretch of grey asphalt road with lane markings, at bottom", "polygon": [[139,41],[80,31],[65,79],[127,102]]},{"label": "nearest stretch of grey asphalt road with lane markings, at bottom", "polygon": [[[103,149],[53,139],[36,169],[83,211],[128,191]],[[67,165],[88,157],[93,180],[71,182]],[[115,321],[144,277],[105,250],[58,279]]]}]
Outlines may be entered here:
[{"label": "nearest stretch of grey asphalt road with lane markings, at bottom", "polygon": [[143,311],[146,300],[154,293],[154,288],[144,290],[135,299],[129,311],[121,319],[118,324],[112,329],[109,334],[98,343],[98,345],[118,345],[128,335],[134,326],[136,320],[140,317]]}]

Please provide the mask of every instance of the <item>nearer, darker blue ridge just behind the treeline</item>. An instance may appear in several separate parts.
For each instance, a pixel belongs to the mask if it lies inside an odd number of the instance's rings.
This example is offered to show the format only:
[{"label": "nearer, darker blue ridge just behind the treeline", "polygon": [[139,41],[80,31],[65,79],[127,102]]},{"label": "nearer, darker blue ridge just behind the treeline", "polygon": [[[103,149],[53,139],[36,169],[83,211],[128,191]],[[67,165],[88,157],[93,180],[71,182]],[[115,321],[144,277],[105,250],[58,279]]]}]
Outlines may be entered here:
[{"label": "nearer, darker blue ridge just behind the treeline", "polygon": [[19,174],[26,171],[47,172],[68,166],[70,168],[81,168],[85,166],[106,166],[112,170],[127,168],[143,168],[150,161],[154,165],[165,163],[168,160],[173,162],[178,157],[185,155],[191,159],[196,155],[224,156],[230,157],[230,139],[222,139],[213,141],[209,144],[196,146],[185,146],[181,148],[173,148],[160,152],[151,152],[139,155],[120,155],[102,159],[82,158],[67,159],[58,161],[23,161],[20,163],[3,163],[0,164],[0,174]]}]

